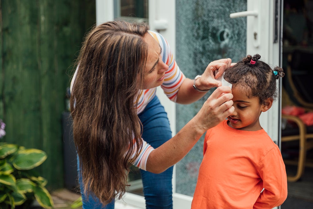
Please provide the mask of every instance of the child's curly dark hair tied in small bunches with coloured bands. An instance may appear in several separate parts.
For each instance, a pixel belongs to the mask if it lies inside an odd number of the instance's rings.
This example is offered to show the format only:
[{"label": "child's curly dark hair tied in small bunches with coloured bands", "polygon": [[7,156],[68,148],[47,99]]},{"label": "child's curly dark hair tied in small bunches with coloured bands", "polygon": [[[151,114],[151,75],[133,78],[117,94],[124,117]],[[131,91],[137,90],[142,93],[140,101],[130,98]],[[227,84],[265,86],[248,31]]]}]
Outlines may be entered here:
[{"label": "child's curly dark hair tied in small bunches with coloured bands", "polygon": [[259,60],[259,54],[248,55],[225,71],[224,79],[233,85],[242,85],[251,89],[251,97],[259,97],[260,103],[266,105],[265,100],[277,97],[276,79],[284,77],[284,70],[275,67],[274,70],[265,62]]}]

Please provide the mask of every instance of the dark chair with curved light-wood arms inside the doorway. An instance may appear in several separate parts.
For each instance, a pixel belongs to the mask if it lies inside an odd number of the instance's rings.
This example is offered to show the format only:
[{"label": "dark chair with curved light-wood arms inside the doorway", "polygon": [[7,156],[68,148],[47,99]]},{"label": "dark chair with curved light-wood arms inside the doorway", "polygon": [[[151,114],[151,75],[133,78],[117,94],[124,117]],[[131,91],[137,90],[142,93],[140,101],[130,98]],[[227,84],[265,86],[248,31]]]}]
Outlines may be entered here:
[{"label": "dark chair with curved light-wood arms inside the doorway", "polygon": [[[294,50],[288,55],[288,65],[285,71],[286,76],[283,79],[283,86],[285,86],[286,90],[288,89],[289,99],[307,111],[313,111],[313,67],[310,62],[312,59],[312,50]],[[296,116],[282,114],[282,119],[292,122],[294,126],[282,130],[281,142],[299,140],[298,159],[296,161],[284,159],[285,164],[297,165],[296,174],[294,176],[287,176],[288,181],[294,182],[299,180],[305,166],[313,166],[313,163],[306,161],[307,151],[313,149],[313,126],[306,126]]]}]

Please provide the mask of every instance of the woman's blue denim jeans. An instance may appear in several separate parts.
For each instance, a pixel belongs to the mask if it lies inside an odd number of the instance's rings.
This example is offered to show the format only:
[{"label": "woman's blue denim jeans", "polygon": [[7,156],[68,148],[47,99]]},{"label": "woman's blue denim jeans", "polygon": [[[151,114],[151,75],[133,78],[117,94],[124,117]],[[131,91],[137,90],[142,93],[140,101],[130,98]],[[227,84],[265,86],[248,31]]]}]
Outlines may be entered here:
[{"label": "woman's blue denim jeans", "polygon": [[[159,147],[172,138],[167,113],[156,96],[149,102],[144,111],[141,112],[138,117],[143,125],[142,138],[153,148]],[[143,183],[143,192],[146,199],[146,208],[172,209],[173,166],[160,174],[153,174],[144,170],[140,171]],[[79,182],[82,191],[81,178],[79,178]],[[102,207],[101,204],[99,204],[99,200],[94,200],[92,196],[90,196],[88,201],[86,201],[86,196],[82,194],[82,199],[83,209],[114,209],[114,200],[105,207]]]}]

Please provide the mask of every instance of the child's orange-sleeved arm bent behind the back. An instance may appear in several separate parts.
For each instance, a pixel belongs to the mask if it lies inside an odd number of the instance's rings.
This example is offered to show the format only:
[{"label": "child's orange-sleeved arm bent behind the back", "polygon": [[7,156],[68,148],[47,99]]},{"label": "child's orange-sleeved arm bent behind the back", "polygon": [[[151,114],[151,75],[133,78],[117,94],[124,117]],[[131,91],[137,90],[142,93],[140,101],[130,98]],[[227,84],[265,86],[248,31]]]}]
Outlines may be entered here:
[{"label": "child's orange-sleeved arm bent behind the back", "polygon": [[258,171],[263,180],[264,190],[253,208],[273,208],[283,204],[287,198],[287,175],[277,146],[265,155],[258,166]]}]

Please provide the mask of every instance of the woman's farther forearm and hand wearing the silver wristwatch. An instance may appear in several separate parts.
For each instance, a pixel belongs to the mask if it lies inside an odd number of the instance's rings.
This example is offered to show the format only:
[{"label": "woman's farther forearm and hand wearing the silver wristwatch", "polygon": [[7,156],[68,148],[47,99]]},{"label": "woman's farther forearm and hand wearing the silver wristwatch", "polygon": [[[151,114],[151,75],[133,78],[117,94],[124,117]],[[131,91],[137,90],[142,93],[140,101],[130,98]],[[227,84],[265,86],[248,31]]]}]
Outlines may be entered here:
[{"label": "woman's farther forearm and hand wearing the silver wristwatch", "polygon": [[[221,81],[218,81],[215,79],[220,77],[223,72],[230,67],[231,64],[231,59],[221,59],[221,60],[215,60],[211,62],[207,68],[205,69],[204,73],[200,78],[198,78],[195,81],[195,86],[199,90],[209,90],[212,87],[218,87],[221,86],[222,83]],[[214,76],[214,71],[218,70],[218,73],[216,76]],[[194,80],[186,78],[182,85],[179,87],[179,90],[177,92],[177,103],[180,104],[190,104],[192,102],[197,101],[201,97],[204,96],[204,94],[207,93],[205,92],[200,92],[197,91],[194,87]]]}]

